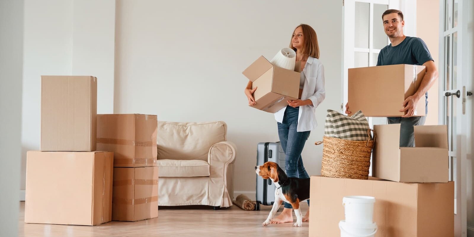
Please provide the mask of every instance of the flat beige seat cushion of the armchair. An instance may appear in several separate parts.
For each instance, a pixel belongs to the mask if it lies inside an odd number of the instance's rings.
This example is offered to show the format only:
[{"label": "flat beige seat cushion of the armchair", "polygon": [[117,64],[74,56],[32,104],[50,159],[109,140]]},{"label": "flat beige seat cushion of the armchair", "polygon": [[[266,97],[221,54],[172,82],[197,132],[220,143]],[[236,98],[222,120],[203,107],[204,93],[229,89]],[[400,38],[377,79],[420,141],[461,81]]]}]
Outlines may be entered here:
[{"label": "flat beige seat cushion of the armchair", "polygon": [[209,176],[209,163],[201,160],[161,159],[157,162],[159,177],[199,177]]}]

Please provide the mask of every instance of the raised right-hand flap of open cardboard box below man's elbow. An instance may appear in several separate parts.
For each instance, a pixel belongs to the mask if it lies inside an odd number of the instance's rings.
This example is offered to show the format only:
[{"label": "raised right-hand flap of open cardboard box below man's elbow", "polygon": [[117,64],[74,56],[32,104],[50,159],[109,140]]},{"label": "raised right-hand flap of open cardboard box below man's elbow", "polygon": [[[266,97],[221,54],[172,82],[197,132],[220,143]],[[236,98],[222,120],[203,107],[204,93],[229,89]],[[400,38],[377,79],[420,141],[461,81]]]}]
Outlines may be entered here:
[{"label": "raised right-hand flap of open cardboard box below man's elbow", "polygon": [[439,147],[448,149],[446,125],[413,126],[416,147]]}]

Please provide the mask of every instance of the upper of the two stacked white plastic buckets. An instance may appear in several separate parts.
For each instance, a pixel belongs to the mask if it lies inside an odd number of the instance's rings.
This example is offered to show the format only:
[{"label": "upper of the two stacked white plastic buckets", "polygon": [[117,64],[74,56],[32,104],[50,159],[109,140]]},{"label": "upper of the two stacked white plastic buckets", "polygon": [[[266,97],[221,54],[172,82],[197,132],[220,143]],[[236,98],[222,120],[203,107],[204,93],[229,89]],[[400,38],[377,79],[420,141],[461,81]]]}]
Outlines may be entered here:
[{"label": "upper of the two stacked white plastic buckets", "polygon": [[374,223],[374,197],[346,196],[342,199],[346,223],[372,224]]}]

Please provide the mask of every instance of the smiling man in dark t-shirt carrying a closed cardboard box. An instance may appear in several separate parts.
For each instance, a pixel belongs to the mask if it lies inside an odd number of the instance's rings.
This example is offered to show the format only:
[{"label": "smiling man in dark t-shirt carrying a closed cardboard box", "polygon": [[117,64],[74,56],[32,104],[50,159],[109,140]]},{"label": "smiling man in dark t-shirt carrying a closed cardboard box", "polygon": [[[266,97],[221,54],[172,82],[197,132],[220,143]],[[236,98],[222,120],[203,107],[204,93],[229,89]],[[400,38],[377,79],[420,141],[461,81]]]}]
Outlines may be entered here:
[{"label": "smiling man in dark t-shirt carrying a closed cardboard box", "polygon": [[[417,37],[410,37],[403,35],[403,13],[399,10],[389,9],[383,12],[383,28],[385,34],[390,39],[390,45],[385,46],[379,54],[377,66],[393,65],[393,64],[415,64],[426,67],[426,74],[421,81],[418,91],[412,96],[409,96],[401,104],[403,109],[401,112],[406,112],[406,115],[394,118],[387,118],[389,124],[400,124],[400,146],[414,146],[413,126],[424,125],[425,116],[413,117],[414,111],[417,109],[418,100],[426,97],[425,110],[428,114],[428,89],[438,78],[438,69],[436,64],[428,51],[425,42]],[[346,104],[346,113],[349,111],[349,106]]]}]

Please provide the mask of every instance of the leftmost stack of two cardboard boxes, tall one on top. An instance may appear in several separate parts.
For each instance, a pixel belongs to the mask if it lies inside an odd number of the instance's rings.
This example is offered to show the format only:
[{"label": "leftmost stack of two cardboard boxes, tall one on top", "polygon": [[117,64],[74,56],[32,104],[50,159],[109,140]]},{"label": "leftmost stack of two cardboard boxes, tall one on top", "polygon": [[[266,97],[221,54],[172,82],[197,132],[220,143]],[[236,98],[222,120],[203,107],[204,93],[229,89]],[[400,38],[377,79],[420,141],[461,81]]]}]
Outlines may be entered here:
[{"label": "leftmost stack of two cardboard boxes, tall one on top", "polygon": [[41,79],[41,151],[27,152],[25,222],[108,222],[113,152],[95,151],[97,78]]}]

